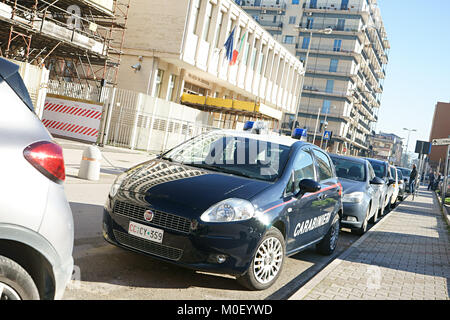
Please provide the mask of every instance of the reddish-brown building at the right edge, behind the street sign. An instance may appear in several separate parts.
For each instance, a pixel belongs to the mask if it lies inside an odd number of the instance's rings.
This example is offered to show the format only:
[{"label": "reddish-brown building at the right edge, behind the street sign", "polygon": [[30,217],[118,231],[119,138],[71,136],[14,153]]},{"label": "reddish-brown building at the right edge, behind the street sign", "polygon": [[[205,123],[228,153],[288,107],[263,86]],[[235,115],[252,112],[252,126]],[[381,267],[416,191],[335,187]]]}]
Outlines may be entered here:
[{"label": "reddish-brown building at the right edge, behind the street sign", "polygon": [[[438,102],[434,110],[430,141],[450,137],[450,103]],[[429,155],[430,166],[444,171],[447,146],[433,146]]]}]

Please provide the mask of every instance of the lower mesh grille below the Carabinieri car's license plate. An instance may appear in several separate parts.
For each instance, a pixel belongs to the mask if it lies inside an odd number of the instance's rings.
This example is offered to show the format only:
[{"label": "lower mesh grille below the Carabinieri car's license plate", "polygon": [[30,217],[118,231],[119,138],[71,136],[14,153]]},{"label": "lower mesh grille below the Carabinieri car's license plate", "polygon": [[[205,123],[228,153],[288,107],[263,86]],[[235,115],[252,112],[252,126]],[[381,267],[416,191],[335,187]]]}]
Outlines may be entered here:
[{"label": "lower mesh grille below the Carabinieri car's license plate", "polygon": [[114,230],[114,237],[116,238],[117,242],[124,246],[150,253],[158,257],[178,261],[183,255],[183,250],[181,249],[172,248],[160,243],[141,239],[120,231]]}]

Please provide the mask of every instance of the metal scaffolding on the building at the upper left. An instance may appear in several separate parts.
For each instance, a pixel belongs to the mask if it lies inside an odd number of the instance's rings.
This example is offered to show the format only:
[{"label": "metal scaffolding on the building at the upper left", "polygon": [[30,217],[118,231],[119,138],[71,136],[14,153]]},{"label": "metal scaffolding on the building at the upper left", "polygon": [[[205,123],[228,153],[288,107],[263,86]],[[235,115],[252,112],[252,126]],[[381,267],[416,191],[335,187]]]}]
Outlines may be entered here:
[{"label": "metal scaffolding on the building at the upper left", "polygon": [[0,0],[0,56],[45,66],[53,83],[98,100],[117,83],[130,1]]}]

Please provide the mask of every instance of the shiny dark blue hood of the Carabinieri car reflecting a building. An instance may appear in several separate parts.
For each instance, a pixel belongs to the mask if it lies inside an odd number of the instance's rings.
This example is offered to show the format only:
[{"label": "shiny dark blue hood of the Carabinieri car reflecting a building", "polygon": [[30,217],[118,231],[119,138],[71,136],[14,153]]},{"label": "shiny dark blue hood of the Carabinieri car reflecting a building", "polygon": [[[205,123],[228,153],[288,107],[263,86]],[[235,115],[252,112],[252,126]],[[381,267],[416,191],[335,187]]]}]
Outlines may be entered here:
[{"label": "shiny dark blue hood of the Carabinieri car reflecting a building", "polygon": [[250,200],[271,185],[265,181],[152,160],[130,170],[122,182],[118,200],[196,218],[222,200]]}]

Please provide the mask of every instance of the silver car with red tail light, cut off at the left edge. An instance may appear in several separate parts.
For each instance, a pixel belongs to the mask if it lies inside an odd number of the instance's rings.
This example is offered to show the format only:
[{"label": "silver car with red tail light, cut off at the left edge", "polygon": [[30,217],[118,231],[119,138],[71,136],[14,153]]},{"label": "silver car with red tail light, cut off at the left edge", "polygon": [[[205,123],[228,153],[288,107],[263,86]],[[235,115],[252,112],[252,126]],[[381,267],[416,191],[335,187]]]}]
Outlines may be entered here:
[{"label": "silver car with red tail light, cut off at the left edge", "polygon": [[62,148],[34,113],[18,66],[0,58],[0,300],[59,299],[73,271]]}]

